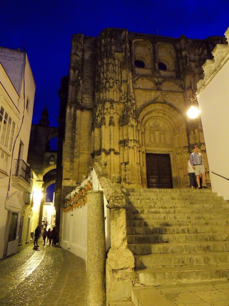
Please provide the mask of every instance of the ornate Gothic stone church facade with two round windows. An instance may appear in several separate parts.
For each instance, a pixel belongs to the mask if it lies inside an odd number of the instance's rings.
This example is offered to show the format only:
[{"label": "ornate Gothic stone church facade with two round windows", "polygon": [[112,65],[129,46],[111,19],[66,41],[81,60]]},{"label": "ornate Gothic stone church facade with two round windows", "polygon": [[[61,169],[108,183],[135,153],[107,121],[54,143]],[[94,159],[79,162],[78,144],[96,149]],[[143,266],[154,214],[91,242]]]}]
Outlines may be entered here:
[{"label": "ornate Gothic stone church facade with two round windows", "polygon": [[201,120],[189,119],[187,110],[197,104],[196,83],[217,43],[226,41],[117,28],[98,37],[73,35],[62,197],[82,180],[96,155],[107,161],[110,177],[122,176],[124,187],[185,188],[194,144],[204,156],[210,184]]}]

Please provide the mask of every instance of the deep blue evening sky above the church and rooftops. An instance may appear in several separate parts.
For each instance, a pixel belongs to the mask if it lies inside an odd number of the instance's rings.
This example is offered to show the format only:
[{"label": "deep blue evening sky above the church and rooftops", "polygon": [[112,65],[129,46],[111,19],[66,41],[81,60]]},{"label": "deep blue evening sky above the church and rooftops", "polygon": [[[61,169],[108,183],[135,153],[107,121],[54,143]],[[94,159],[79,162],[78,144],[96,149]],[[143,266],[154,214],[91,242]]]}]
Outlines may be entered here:
[{"label": "deep blue evening sky above the church and rooftops", "polygon": [[0,7],[0,45],[26,48],[36,83],[33,124],[47,104],[50,126],[57,126],[57,91],[68,73],[72,34],[98,36],[104,28],[115,27],[205,39],[224,35],[228,12],[228,0],[5,0]]}]

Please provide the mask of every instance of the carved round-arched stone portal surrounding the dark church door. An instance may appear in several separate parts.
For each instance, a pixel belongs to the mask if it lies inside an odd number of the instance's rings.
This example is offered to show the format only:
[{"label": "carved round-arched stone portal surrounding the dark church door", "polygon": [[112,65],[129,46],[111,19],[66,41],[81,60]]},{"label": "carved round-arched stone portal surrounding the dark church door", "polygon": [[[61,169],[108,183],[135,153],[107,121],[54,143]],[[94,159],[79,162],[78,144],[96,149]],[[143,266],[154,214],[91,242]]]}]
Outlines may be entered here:
[{"label": "carved round-arched stone portal surrounding the dark church door", "polygon": [[165,103],[151,103],[138,115],[143,186],[147,187],[146,154],[170,156],[173,188],[184,187],[185,167],[189,158],[187,128],[183,116]]}]

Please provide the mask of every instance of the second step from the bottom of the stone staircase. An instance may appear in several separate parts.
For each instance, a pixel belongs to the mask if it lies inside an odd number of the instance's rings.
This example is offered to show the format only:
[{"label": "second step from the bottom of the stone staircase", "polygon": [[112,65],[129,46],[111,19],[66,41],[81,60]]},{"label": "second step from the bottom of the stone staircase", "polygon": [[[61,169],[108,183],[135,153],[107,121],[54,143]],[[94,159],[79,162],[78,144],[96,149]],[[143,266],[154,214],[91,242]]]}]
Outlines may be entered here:
[{"label": "second step from the bottom of the stone staircase", "polygon": [[193,252],[134,255],[135,268],[219,265],[229,262],[229,252]]}]

